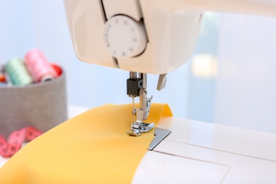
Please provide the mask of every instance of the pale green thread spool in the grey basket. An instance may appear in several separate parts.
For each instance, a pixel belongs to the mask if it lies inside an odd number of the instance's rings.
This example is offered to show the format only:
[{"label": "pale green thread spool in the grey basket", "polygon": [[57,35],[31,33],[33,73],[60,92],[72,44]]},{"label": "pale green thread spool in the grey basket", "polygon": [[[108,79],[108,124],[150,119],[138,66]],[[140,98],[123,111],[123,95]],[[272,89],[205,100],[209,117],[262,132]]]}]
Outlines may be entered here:
[{"label": "pale green thread spool in the grey basket", "polygon": [[30,76],[28,69],[25,67],[23,60],[18,57],[9,60],[5,65],[5,70],[8,72],[12,83],[16,86],[33,83],[33,79]]}]

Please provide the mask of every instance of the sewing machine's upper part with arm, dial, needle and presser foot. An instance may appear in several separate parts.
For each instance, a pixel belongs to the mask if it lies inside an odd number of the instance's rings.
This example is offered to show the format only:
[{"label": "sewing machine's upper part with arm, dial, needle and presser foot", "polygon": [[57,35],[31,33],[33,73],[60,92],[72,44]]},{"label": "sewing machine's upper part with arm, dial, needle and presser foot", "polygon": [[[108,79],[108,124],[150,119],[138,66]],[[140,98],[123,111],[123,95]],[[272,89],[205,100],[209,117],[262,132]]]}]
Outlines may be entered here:
[{"label": "sewing machine's upper part with arm, dial, needle and presser foot", "polygon": [[[64,0],[76,56],[83,62],[130,71],[127,95],[139,96],[132,135],[151,130],[144,124],[151,98],[146,74],[166,74],[188,61],[205,10],[276,15],[270,0]],[[133,100],[134,102],[134,100]]]}]

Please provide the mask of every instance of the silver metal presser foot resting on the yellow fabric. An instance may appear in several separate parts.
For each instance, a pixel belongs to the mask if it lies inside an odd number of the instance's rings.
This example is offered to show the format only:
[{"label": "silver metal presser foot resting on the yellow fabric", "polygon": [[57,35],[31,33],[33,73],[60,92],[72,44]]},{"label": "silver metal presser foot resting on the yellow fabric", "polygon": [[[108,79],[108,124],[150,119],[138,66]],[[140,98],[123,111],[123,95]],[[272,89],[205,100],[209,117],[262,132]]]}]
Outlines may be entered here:
[{"label": "silver metal presser foot resting on the yellow fabric", "polygon": [[154,128],[154,122],[151,123],[145,123],[145,122],[134,122],[132,123],[131,130],[127,130],[127,134],[130,136],[138,137],[143,132],[149,132],[151,129]]}]

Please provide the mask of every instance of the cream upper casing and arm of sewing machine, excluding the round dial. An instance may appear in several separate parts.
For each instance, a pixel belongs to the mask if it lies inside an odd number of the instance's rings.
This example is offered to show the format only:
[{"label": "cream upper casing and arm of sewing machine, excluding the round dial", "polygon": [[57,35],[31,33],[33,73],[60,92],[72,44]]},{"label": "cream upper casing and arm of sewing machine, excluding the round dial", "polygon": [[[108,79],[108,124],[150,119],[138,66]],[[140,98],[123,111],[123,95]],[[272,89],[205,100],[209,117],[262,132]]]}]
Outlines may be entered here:
[{"label": "cream upper casing and arm of sewing machine, excluding the round dial", "polygon": [[[145,74],[166,74],[188,62],[205,11],[276,16],[276,4],[270,0],[64,0],[64,6],[74,50],[81,61]],[[110,54],[105,42],[105,23],[121,15],[144,23],[146,45],[132,57]],[[127,33],[122,25],[120,28]],[[123,39],[118,37],[115,42]],[[131,43],[126,45],[132,47]]]}]

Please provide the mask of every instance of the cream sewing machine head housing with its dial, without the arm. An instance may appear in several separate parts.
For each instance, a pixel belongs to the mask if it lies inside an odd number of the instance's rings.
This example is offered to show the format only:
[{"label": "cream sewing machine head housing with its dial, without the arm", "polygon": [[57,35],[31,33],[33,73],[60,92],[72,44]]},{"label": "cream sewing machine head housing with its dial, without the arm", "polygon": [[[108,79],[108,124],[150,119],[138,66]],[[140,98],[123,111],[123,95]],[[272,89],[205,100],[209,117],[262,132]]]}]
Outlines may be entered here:
[{"label": "cream sewing machine head housing with its dial, without the arm", "polygon": [[[168,2],[170,4],[170,2]],[[188,61],[202,11],[159,1],[64,1],[71,40],[83,62],[166,74]]]}]

